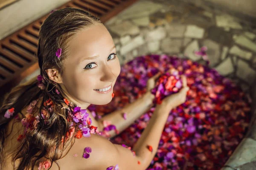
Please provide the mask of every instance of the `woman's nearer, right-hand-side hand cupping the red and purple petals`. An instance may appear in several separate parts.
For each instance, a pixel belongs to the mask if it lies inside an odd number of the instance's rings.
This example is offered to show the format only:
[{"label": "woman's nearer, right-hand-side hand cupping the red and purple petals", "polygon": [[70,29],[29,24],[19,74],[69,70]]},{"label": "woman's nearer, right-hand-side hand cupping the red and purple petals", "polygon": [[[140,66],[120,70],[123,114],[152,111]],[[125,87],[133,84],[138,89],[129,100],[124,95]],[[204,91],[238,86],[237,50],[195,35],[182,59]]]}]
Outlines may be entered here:
[{"label": "woman's nearer, right-hand-side hand cupping the red and purple petals", "polygon": [[176,108],[186,101],[186,94],[189,91],[189,87],[187,86],[186,77],[181,76],[183,82],[183,88],[176,94],[172,94],[163,99],[161,105],[158,105],[160,108],[164,107],[168,109],[168,111],[172,110],[172,108]]}]

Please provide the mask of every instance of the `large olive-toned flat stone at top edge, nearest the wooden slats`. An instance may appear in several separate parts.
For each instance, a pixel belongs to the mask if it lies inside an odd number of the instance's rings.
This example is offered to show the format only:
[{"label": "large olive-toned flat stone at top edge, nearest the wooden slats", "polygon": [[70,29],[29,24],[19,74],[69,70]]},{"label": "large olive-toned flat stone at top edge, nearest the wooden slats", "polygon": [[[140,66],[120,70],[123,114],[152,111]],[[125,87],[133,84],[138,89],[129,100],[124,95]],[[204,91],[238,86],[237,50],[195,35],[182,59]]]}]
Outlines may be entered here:
[{"label": "large olive-toned flat stone at top edge, nearest the wooden slats", "polygon": [[148,0],[140,0],[118,14],[122,20],[134,19],[149,16],[163,8],[160,3],[153,3]]}]

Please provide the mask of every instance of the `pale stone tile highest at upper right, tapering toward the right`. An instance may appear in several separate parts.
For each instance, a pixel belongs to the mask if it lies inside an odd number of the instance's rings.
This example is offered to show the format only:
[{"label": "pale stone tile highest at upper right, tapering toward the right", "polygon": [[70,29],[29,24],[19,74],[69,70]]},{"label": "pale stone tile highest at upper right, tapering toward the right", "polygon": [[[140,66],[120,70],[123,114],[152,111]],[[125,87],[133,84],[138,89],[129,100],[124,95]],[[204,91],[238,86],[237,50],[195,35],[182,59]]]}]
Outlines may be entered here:
[{"label": "pale stone tile highest at upper right, tapering toward the right", "polygon": [[228,14],[216,15],[216,25],[218,27],[230,27],[233,29],[243,28],[234,17]]}]

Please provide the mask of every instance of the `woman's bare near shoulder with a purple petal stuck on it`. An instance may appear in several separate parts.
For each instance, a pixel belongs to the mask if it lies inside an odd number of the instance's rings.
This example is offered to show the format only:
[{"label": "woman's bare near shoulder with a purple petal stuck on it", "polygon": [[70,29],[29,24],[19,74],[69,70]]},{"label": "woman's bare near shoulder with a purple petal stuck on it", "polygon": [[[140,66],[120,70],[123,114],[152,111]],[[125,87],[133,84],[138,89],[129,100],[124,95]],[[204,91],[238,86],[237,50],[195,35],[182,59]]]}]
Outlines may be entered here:
[{"label": "woman's bare near shoulder with a purple petal stuck on it", "polygon": [[[89,158],[83,157],[84,148],[90,147]],[[141,164],[138,164],[138,161]],[[128,148],[113,144],[108,139],[97,134],[88,138],[76,139],[73,147],[63,158],[58,160],[61,167],[73,170],[106,170],[108,167],[119,165],[120,170],[144,170],[143,160],[134,156]],[[70,164],[72,162],[72,164]]]}]

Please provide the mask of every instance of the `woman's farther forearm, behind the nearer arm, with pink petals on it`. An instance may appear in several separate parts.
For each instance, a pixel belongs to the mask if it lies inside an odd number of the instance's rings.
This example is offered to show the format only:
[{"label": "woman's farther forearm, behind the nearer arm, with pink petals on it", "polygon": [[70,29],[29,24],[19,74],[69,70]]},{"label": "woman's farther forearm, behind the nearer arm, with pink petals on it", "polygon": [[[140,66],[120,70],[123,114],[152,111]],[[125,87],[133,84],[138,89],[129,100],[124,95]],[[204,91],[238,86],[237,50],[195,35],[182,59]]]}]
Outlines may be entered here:
[{"label": "woman's farther forearm, behind the nearer arm, with pink petals on it", "polygon": [[[135,120],[140,118],[140,116],[148,111],[153,105],[152,101],[154,99],[154,95],[151,94],[150,91],[146,92],[141,96],[139,99],[137,99],[135,102],[132,102],[128,105],[125,105],[124,108],[122,108],[119,111],[114,111],[112,113],[109,113],[108,115],[102,116],[101,119],[99,119],[98,122],[98,130],[101,132],[103,130],[103,121],[108,120],[111,122],[112,125],[116,126],[116,129],[119,130],[119,133],[121,133],[123,130],[125,130],[127,127],[129,127],[132,123],[134,123]],[[123,113],[127,114],[127,119],[125,120],[123,117]],[[109,138],[113,138],[117,134],[114,130],[111,130],[108,132],[111,136]]]}]

